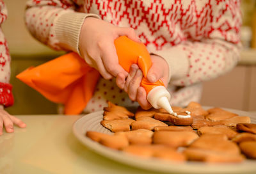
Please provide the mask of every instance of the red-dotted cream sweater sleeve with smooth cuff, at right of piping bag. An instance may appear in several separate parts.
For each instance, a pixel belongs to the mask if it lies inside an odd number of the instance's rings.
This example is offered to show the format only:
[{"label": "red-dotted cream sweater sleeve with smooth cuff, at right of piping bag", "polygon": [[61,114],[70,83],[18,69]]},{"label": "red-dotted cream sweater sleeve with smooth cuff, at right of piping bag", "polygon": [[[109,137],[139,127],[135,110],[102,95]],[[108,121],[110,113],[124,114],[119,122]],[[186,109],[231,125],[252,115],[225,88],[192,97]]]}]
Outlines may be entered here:
[{"label": "red-dotted cream sweater sleeve with smooth cuff, at right of piping bag", "polygon": [[211,24],[193,31],[203,33],[200,39],[191,37],[175,46],[152,52],[167,61],[172,84],[199,83],[223,75],[236,66],[241,48],[239,9],[237,1],[219,2],[212,10]]}]

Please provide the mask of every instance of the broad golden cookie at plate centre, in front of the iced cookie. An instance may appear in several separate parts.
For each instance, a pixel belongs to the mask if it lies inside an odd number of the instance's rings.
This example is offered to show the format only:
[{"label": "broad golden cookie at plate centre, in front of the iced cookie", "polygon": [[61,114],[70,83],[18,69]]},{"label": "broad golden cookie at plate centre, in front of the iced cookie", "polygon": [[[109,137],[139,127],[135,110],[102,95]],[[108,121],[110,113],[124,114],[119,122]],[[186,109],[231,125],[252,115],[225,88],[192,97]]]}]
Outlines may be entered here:
[{"label": "broad golden cookie at plate centre, in front of the iced cookie", "polygon": [[188,146],[197,138],[198,135],[191,131],[157,131],[154,132],[153,143],[177,148],[179,146]]}]

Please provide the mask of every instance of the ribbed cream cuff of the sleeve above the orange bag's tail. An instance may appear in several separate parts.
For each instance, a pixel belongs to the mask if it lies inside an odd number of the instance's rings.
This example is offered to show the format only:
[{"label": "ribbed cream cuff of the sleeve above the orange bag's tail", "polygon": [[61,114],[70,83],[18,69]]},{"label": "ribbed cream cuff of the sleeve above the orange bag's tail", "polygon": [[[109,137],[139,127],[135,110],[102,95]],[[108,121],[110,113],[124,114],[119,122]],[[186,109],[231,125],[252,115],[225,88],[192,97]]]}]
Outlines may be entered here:
[{"label": "ribbed cream cuff of the sleeve above the orange bag's tail", "polygon": [[55,22],[54,33],[56,33],[56,38],[58,39],[61,47],[80,54],[79,36],[86,17],[99,18],[97,15],[92,13],[67,11],[66,13],[60,14]]}]

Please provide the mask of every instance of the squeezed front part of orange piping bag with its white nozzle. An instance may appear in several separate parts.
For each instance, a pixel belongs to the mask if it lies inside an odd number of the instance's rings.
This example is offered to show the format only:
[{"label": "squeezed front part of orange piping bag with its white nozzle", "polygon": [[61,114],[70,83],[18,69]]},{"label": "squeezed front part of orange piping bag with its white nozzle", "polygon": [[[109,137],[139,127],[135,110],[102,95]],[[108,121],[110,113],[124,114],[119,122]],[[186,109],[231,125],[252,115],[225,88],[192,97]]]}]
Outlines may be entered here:
[{"label": "squeezed front part of orange piping bag with its white nozzle", "polygon": [[115,40],[115,47],[119,64],[125,71],[129,72],[132,64],[137,64],[142,71],[143,78],[140,86],[145,89],[148,102],[156,109],[163,107],[169,113],[173,113],[168,101],[170,100],[170,93],[164,87],[163,81],[158,80],[151,83],[147,79],[152,61],[145,45],[134,42],[126,36],[120,36]]}]

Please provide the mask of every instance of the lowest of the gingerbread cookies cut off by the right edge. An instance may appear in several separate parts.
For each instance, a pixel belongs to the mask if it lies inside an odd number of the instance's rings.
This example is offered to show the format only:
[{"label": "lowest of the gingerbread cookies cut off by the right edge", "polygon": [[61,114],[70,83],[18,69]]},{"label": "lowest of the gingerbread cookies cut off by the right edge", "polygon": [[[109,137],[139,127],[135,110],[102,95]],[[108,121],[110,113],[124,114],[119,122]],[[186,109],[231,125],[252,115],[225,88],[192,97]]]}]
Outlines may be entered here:
[{"label": "lowest of the gingerbread cookies cut off by the right edge", "polygon": [[256,141],[244,141],[239,147],[246,157],[256,159]]}]

